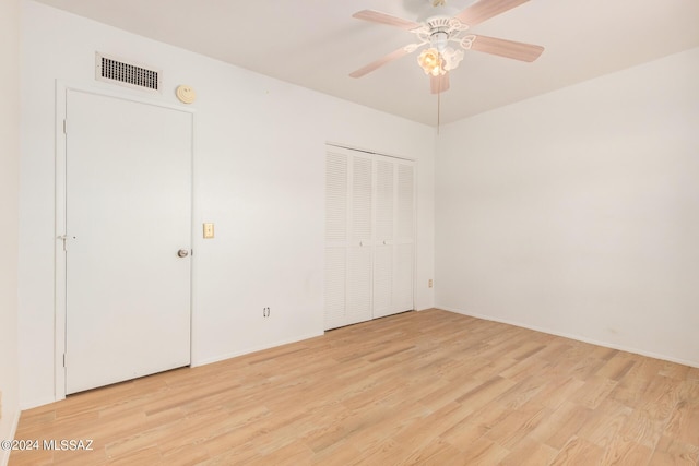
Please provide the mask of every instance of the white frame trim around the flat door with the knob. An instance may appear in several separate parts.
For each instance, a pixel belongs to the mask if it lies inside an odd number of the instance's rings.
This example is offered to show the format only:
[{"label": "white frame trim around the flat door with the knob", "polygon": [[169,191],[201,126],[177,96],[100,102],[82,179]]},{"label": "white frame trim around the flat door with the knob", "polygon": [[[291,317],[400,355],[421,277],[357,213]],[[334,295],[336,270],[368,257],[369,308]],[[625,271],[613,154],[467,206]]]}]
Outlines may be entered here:
[{"label": "white frame trim around the flat door with the knob", "polygon": [[[191,129],[191,193],[192,196],[192,212],[190,213],[190,235],[192,238],[192,251],[194,249],[194,240],[197,236],[194,234],[194,154],[196,154],[196,118],[197,112],[194,109],[182,107],[179,105],[173,105],[165,101],[161,101],[154,98],[143,97],[140,94],[130,93],[128,91],[116,91],[111,86],[100,85],[95,83],[94,85],[86,84],[84,82],[70,82],[63,80],[56,80],[56,121],[55,121],[55,171],[56,171],[56,184],[55,184],[55,198],[56,198],[56,226],[54,235],[54,398],[60,401],[66,398],[66,333],[67,333],[67,275],[66,275],[66,250],[63,249],[63,238],[66,236],[66,214],[67,214],[67,139],[63,132],[63,120],[66,119],[68,92],[76,91],[86,94],[94,94],[103,97],[118,98],[120,100],[132,101],[134,104],[152,105],[155,107],[162,107],[170,110],[183,111],[190,113],[192,117]],[[194,254],[191,254],[190,261],[190,361],[192,360],[192,325],[194,314],[194,286],[193,286],[193,271],[194,271]]]}]

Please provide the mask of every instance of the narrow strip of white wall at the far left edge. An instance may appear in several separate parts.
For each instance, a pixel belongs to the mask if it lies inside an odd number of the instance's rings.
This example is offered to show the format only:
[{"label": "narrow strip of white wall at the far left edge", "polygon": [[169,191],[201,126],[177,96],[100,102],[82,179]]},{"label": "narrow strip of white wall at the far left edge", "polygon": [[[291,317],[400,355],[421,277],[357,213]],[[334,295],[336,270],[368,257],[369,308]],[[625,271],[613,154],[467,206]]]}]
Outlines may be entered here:
[{"label": "narrow strip of white wall at the far left edge", "polygon": [[[17,235],[20,229],[20,1],[0,2],[0,440],[11,439],[19,409]],[[9,453],[0,450],[0,464]]]}]

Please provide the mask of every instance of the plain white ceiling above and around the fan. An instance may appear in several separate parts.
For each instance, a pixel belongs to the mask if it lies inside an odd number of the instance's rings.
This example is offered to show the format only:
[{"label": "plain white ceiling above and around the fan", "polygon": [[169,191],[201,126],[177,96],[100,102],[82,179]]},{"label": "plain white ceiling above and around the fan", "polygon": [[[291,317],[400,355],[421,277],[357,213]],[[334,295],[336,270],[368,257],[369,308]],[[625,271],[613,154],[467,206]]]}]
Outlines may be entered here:
[{"label": "plain white ceiling above and around the fan", "polygon": [[[415,21],[426,0],[39,0],[269,76],[414,121],[437,123],[417,52],[348,73],[411,44],[364,9]],[[459,10],[473,0],[451,0]],[[698,0],[532,0],[472,28],[536,44],[533,63],[467,51],[441,96],[441,123],[699,46]]]}]

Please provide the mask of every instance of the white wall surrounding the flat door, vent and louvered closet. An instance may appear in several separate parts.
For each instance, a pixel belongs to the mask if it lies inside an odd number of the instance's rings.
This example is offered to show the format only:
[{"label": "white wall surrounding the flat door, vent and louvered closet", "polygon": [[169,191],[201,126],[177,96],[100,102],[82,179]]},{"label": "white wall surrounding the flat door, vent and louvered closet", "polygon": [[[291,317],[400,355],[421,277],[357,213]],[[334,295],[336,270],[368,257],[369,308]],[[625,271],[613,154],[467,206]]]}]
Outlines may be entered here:
[{"label": "white wall surrounding the flat door, vent and louvered closet", "polygon": [[[327,141],[417,159],[415,302],[433,306],[431,128],[33,1],[23,8],[22,406],[55,397],[55,81],[115,89],[94,82],[95,51],[162,69],[157,100],[177,104],[179,84],[198,93],[194,230],[213,222],[216,239],[194,240],[194,363],[322,333]],[[262,319],[264,307],[271,319]]]}]

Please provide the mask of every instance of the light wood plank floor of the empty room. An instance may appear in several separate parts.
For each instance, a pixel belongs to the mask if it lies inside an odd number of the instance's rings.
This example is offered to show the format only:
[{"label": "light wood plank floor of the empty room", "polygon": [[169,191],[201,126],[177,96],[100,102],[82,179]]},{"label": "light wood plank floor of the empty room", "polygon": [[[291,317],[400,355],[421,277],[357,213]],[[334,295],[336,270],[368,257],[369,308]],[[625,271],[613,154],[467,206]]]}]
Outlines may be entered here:
[{"label": "light wood plank floor of the empty room", "polygon": [[10,465],[699,463],[699,369],[440,310],[22,414]]}]

